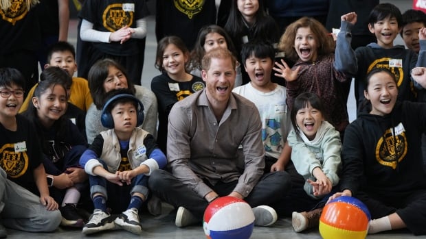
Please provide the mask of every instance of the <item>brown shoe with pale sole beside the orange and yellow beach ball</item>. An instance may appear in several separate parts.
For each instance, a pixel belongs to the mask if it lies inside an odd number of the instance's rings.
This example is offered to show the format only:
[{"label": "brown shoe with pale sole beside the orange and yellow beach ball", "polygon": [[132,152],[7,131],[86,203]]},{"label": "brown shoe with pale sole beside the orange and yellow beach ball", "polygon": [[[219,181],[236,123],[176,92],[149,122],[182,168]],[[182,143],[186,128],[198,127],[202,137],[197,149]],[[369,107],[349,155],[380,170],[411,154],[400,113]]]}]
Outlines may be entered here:
[{"label": "brown shoe with pale sole beside the orange and yellow beach ball", "polygon": [[294,231],[300,232],[320,225],[322,208],[309,212],[293,212],[291,214],[291,225]]}]

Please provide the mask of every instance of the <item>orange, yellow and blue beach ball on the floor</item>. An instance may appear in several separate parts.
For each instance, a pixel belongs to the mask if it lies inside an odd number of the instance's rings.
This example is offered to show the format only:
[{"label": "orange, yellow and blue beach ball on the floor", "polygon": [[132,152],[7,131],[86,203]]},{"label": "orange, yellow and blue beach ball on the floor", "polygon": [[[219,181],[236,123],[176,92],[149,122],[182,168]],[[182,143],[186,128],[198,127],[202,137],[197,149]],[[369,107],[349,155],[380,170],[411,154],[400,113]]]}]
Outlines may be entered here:
[{"label": "orange, yellow and blue beach ball on the floor", "polygon": [[324,239],[364,239],[371,216],[367,206],[355,197],[341,196],[322,210],[320,234]]}]

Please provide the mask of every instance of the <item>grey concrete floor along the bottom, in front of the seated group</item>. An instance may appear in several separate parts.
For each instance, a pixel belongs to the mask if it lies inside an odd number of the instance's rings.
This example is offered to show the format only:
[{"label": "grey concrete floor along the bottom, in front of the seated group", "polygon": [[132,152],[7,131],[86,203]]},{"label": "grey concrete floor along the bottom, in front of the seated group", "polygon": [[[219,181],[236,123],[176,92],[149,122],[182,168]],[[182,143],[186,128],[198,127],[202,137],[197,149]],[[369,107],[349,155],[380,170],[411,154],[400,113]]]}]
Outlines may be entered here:
[{"label": "grey concrete floor along the bottom, in front of the seated group", "polygon": [[[168,239],[199,239],[205,238],[203,227],[190,226],[179,228],[175,226],[175,212],[170,211],[166,207],[166,213],[160,216],[153,217],[144,215],[141,218],[142,222],[142,235],[137,236],[127,231],[104,231],[99,234],[91,234],[85,236],[81,233],[80,229],[63,229],[59,228],[53,233],[29,233],[23,231],[8,230],[8,239],[22,239],[22,238],[168,238]],[[276,239],[276,238],[291,238],[291,239],[320,239],[320,233],[317,229],[312,229],[304,233],[295,233],[291,227],[291,218],[280,218],[271,227],[254,227],[251,239]],[[396,238],[426,238],[426,236],[412,236],[409,231],[392,231],[390,233],[381,233],[375,235],[368,235],[369,239],[396,239]],[[238,239],[238,238],[236,238]],[[344,238],[330,238],[330,239],[344,239]]]}]

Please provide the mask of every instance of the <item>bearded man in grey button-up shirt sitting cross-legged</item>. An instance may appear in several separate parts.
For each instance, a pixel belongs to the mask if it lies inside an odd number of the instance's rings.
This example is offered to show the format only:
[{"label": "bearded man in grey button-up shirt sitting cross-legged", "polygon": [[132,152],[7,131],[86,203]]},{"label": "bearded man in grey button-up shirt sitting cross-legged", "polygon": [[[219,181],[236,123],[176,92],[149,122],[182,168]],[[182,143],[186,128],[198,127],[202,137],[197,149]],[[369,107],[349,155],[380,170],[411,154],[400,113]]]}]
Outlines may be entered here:
[{"label": "bearded man in grey button-up shirt sitting cross-legged", "polygon": [[[169,114],[171,173],[154,171],[150,190],[179,207],[177,227],[201,223],[208,204],[223,196],[244,199],[253,207],[255,225],[271,225],[277,214],[267,205],[284,197],[290,176],[284,171],[263,175],[260,115],[254,103],[232,92],[232,53],[216,49],[204,56],[202,65],[205,89],[177,102]],[[240,146],[243,155],[238,153]]]}]

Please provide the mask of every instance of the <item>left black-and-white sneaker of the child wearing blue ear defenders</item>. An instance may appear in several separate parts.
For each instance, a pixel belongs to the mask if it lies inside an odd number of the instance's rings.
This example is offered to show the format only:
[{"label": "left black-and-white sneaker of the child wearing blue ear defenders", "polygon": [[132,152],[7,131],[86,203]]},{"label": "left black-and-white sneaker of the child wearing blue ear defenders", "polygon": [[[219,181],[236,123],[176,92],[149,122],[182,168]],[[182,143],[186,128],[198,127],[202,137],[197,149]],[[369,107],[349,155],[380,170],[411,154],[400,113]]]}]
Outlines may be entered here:
[{"label": "left black-and-white sneaker of the child wearing blue ear defenders", "polygon": [[93,234],[99,231],[115,229],[113,216],[102,210],[95,210],[89,218],[89,222],[83,227],[82,234]]}]

